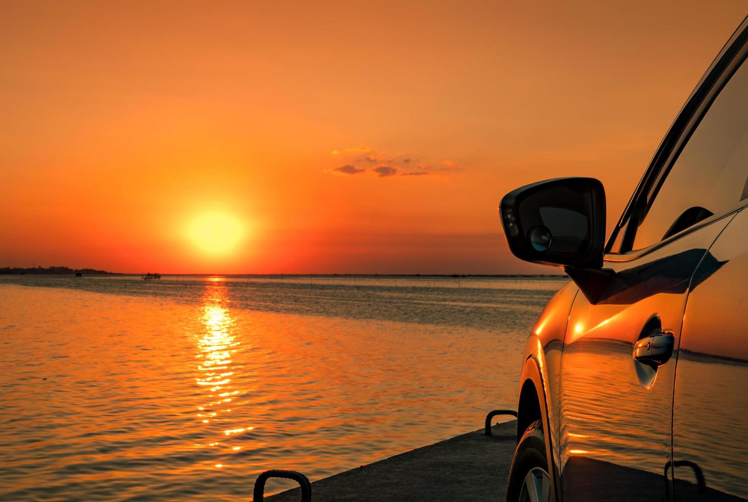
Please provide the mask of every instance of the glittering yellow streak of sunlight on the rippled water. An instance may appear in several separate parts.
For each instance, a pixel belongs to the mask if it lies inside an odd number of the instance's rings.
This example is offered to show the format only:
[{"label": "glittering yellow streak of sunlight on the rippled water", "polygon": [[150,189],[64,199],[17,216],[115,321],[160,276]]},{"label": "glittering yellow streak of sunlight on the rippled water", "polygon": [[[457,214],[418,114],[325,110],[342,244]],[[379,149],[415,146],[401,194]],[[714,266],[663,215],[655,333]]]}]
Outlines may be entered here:
[{"label": "glittering yellow streak of sunlight on the rippled water", "polygon": [[[227,436],[245,432],[254,427],[236,426],[230,420],[232,401],[239,394],[234,381],[235,370],[232,358],[241,344],[235,334],[236,320],[228,309],[227,289],[222,278],[206,279],[206,290],[203,295],[201,322],[206,330],[197,340],[199,361],[196,383],[205,392],[208,402],[197,407],[197,419],[210,428],[211,432]],[[230,428],[228,428],[230,427]],[[241,446],[230,446],[221,441],[209,443],[210,447],[221,447],[227,451],[239,451]],[[222,468],[226,464],[215,464]]]}]

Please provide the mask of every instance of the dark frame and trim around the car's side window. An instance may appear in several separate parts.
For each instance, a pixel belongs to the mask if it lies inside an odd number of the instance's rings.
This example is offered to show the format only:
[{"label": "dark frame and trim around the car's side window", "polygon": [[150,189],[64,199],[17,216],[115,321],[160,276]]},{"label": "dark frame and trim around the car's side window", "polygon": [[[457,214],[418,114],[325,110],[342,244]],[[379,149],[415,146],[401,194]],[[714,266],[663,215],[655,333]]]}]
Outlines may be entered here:
[{"label": "dark frame and trim around the car's side window", "polygon": [[[640,207],[640,201],[646,199],[646,209],[652,206],[654,199],[657,198],[657,192],[664,178],[670,169],[678,160],[678,156],[687,144],[693,132],[701,123],[702,118],[708,113],[711,103],[717,98],[729,79],[735,74],[735,71],[744,63],[748,56],[748,16],[743,20],[741,25],[730,37],[720,54],[714,59],[714,62],[708,68],[699,84],[686,101],[686,104],[678,112],[677,117],[670,126],[660,146],[652,157],[649,167],[640,180],[634,195],[628,201],[621,218],[613,227],[607,245],[605,246],[604,261],[608,262],[625,262],[635,260],[645,254],[669,244],[682,236],[687,235],[699,228],[705,227],[726,215],[732,214],[745,206],[748,206],[748,199],[728,206],[715,215],[705,218],[699,223],[692,225],[667,239],[655,242],[646,248],[631,249],[630,251],[620,251],[622,248],[631,248],[634,243],[634,236],[638,225],[632,224],[635,219],[634,211]],[[637,220],[638,221],[638,220]],[[619,247],[614,251],[616,241]]]}]

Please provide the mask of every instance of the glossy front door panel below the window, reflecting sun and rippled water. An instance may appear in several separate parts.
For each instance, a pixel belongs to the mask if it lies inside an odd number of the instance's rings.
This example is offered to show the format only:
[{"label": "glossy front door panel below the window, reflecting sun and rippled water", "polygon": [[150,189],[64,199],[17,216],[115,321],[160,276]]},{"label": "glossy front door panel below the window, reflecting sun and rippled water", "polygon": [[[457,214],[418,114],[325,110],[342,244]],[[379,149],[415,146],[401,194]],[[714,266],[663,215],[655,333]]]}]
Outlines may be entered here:
[{"label": "glossy front door panel below the window, reflecting sun and rippled water", "polygon": [[565,501],[662,500],[670,461],[675,358],[633,358],[669,332],[677,348],[687,287],[726,219],[646,256],[606,266],[626,287],[597,304],[574,299],[561,362],[560,463]]}]

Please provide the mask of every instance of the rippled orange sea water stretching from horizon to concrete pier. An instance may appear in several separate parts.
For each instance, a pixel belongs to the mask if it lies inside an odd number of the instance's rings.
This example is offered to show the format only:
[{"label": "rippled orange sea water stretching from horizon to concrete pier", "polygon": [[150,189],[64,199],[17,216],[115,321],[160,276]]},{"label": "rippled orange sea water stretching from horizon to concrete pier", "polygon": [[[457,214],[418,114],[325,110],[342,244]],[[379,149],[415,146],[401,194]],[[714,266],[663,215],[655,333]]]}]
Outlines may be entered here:
[{"label": "rippled orange sea water stretching from horizon to concrete pier", "polygon": [[0,276],[0,499],[247,499],[479,429],[563,284]]}]

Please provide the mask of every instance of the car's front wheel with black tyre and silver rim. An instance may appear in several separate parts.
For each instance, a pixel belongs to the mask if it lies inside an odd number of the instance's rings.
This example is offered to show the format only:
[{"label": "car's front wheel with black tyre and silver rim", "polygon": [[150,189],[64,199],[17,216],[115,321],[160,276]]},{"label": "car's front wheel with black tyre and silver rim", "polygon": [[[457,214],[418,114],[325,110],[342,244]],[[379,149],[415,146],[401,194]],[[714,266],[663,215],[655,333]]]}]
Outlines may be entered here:
[{"label": "car's front wheel with black tyre and silver rim", "polygon": [[530,423],[517,444],[509,468],[506,502],[551,502],[551,477],[540,420]]}]

